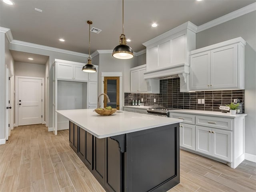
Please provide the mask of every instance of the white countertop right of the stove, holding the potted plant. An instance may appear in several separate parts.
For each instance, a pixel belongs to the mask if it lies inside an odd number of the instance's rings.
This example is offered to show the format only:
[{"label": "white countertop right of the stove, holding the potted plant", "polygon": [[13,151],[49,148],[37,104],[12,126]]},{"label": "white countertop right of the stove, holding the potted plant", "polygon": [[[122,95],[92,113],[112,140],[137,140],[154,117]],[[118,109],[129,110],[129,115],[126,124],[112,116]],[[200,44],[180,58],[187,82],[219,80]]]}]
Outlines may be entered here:
[{"label": "white countertop right of the stove, holding the potted plant", "polygon": [[229,113],[222,113],[222,112],[217,112],[217,111],[203,111],[203,110],[190,110],[190,109],[172,110],[170,112],[198,114],[198,115],[210,115],[210,116],[227,117],[227,118],[240,118],[240,117],[244,117],[247,115],[247,114],[230,115]]}]

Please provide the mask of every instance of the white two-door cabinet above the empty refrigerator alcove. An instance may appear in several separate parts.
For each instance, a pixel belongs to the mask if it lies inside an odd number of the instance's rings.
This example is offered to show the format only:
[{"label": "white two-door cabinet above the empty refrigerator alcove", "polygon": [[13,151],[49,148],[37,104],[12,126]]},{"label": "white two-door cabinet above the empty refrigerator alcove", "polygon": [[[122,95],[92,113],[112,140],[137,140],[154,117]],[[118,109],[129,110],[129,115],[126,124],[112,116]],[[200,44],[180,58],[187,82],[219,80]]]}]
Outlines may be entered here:
[{"label": "white two-door cabinet above the empty refrigerator alcove", "polygon": [[88,81],[88,73],[82,71],[83,63],[56,59],[57,79]]}]

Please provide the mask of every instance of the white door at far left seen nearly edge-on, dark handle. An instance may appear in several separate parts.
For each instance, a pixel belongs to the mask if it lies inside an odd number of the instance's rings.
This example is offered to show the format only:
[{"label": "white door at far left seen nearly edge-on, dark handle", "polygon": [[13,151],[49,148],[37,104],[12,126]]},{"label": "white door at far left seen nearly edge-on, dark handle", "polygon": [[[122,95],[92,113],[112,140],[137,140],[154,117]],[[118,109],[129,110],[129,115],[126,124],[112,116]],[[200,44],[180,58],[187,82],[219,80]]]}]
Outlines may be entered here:
[{"label": "white door at far left seen nearly edge-on, dark handle", "polygon": [[10,70],[6,68],[6,140],[8,140],[8,137],[10,136]]}]

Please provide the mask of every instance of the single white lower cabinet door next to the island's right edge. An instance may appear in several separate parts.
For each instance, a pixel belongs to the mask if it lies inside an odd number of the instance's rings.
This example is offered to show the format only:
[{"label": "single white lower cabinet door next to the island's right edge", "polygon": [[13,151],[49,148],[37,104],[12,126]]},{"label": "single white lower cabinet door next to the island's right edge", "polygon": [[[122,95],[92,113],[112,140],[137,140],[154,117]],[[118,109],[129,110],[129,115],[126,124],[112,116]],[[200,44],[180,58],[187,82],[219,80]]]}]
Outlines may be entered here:
[{"label": "single white lower cabinet door next to the island's right edge", "polygon": [[186,123],[180,123],[180,146],[195,150],[195,126]]}]

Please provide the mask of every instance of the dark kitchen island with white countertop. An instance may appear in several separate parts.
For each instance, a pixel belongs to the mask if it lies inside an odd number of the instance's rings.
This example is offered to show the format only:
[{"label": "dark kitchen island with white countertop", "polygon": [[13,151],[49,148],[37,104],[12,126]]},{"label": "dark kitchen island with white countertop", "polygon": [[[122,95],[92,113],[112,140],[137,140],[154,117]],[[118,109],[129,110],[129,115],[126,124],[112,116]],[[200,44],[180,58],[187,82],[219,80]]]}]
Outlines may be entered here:
[{"label": "dark kitchen island with white countertop", "polygon": [[166,192],[180,182],[179,122],[118,111],[57,111],[70,120],[70,147],[109,192]]}]

